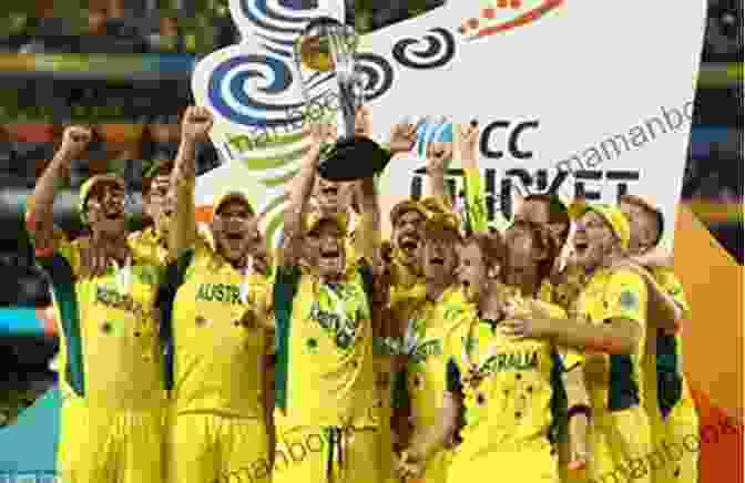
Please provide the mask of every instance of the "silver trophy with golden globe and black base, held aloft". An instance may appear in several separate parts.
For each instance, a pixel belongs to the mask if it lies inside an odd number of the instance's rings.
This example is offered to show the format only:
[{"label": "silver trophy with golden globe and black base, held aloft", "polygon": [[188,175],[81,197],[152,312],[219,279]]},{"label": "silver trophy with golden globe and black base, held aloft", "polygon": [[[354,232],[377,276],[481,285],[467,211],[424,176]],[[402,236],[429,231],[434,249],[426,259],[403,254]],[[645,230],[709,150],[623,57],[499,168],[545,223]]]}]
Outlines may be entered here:
[{"label": "silver trophy with golden globe and black base, held aloft", "polygon": [[[357,70],[357,43],[358,37],[351,27],[329,17],[312,20],[295,42],[295,63],[308,110],[306,117],[310,117],[310,107],[319,103],[312,91],[328,79],[324,73],[333,72],[336,76],[339,136],[318,166],[322,177],[335,182],[371,177],[380,173],[390,160],[390,155],[375,141],[355,133],[356,113],[365,102],[363,79]],[[322,110],[327,101],[320,101]]]}]

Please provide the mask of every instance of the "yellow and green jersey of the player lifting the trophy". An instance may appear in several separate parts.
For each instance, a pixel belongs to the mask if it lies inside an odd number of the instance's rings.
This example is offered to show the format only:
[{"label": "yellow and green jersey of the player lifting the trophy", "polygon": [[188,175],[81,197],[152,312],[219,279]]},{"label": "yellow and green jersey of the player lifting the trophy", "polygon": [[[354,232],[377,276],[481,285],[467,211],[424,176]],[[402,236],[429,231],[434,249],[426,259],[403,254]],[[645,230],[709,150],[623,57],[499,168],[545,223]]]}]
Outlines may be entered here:
[{"label": "yellow and green jersey of the player lifting the trophy", "polygon": [[278,267],[276,408],[286,424],[368,425],[375,401],[372,271],[360,261],[330,286]]}]

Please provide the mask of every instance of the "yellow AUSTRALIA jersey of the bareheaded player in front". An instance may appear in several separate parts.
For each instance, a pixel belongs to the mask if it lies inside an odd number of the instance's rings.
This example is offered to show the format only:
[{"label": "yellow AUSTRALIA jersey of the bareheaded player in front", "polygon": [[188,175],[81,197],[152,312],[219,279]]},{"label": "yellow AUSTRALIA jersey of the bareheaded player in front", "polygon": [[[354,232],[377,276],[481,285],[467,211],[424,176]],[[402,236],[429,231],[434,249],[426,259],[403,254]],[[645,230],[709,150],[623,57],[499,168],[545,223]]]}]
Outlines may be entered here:
[{"label": "yellow AUSTRALIA jersey of the bareheaded player in front", "polygon": [[[561,308],[544,307],[565,318]],[[496,452],[538,450],[550,458],[567,411],[563,364],[551,341],[516,339],[499,321],[472,312],[453,330],[447,353],[448,390],[463,394],[466,421],[453,467]]]}]

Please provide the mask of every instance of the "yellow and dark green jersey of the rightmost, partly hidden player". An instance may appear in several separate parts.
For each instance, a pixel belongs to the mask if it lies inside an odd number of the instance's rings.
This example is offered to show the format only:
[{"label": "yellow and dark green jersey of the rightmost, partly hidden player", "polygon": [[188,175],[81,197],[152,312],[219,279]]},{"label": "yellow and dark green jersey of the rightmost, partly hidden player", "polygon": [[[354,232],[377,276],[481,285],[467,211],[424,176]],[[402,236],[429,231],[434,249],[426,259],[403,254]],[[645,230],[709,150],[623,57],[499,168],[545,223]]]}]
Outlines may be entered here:
[{"label": "yellow and dark green jersey of the rightmost, partly hidden player", "polygon": [[[670,268],[651,269],[655,281],[677,302],[684,318],[688,318],[691,309],[685,298],[683,285]],[[693,397],[683,373],[683,338],[680,335],[665,333],[656,329],[656,374],[657,402],[663,417],[667,417],[674,407],[683,409],[691,418],[696,418]]]}]

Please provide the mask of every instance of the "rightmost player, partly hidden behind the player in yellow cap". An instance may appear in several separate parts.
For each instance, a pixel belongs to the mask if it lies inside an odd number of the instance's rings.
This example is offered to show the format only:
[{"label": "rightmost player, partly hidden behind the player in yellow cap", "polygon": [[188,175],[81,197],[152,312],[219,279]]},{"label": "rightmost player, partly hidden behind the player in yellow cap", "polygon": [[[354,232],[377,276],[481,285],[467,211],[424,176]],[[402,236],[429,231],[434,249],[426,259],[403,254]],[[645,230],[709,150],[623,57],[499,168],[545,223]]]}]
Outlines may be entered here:
[{"label": "rightmost player, partly hidden behind the player in yellow cap", "polygon": [[[665,330],[664,326],[680,326],[690,317],[691,309],[683,286],[672,268],[659,264],[659,244],[664,233],[662,212],[639,196],[624,195],[621,210],[631,222],[629,253],[636,263],[646,265],[653,280],[650,287],[650,330],[656,333],[655,363],[647,367],[645,402],[652,421],[657,448],[682,441],[687,434],[698,434],[698,414],[683,373],[683,340],[680,332]],[[655,251],[657,255],[655,255]],[[662,322],[659,319],[667,319]],[[653,367],[652,367],[653,366]],[[681,451],[674,463],[667,462],[655,475],[660,482],[698,481],[698,455]]]}]

